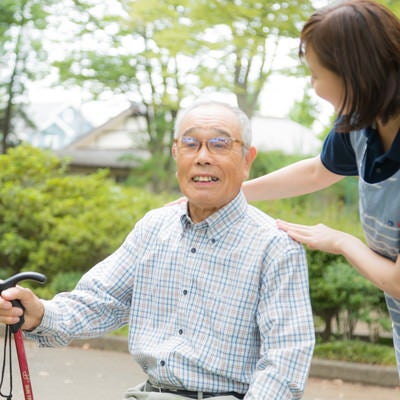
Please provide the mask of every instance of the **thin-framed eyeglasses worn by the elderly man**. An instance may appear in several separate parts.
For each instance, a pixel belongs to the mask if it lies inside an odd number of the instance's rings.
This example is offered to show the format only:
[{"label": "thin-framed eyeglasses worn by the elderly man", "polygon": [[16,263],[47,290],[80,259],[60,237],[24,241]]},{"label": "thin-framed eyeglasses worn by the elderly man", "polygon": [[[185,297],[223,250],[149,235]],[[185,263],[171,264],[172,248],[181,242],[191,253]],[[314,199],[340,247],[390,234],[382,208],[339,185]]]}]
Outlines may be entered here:
[{"label": "thin-framed eyeglasses worn by the elderly man", "polygon": [[197,153],[203,143],[206,144],[208,151],[213,154],[228,153],[232,150],[234,143],[238,143],[241,146],[244,146],[244,142],[242,142],[241,140],[221,136],[213,137],[206,140],[199,140],[193,136],[183,136],[180,139],[175,139],[174,143],[176,143],[180,151],[188,154]]}]

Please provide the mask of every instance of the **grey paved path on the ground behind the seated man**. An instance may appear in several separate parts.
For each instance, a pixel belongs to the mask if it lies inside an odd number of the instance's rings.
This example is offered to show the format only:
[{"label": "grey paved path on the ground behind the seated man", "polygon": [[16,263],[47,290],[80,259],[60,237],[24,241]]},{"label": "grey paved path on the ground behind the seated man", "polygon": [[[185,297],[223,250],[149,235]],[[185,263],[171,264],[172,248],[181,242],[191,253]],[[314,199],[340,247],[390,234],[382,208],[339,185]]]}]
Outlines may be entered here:
[{"label": "grey paved path on the ground behind the seated man", "polygon": [[[144,380],[143,373],[127,353],[76,347],[38,349],[29,341],[25,347],[35,400],[122,400],[126,388]],[[16,360],[13,369],[13,400],[23,400]],[[400,388],[311,378],[303,398],[343,399],[399,400]]]}]

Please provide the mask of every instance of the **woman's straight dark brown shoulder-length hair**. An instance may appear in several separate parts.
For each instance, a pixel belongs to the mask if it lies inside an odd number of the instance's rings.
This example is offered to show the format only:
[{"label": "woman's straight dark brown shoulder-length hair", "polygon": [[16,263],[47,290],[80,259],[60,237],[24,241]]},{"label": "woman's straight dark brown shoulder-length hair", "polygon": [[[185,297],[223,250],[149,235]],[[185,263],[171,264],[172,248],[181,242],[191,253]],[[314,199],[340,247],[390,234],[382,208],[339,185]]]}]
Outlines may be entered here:
[{"label": "woman's straight dark brown shoulder-length hair", "polygon": [[390,10],[372,0],[321,8],[301,31],[300,58],[307,46],[344,81],[337,130],[385,124],[400,111],[400,20]]}]

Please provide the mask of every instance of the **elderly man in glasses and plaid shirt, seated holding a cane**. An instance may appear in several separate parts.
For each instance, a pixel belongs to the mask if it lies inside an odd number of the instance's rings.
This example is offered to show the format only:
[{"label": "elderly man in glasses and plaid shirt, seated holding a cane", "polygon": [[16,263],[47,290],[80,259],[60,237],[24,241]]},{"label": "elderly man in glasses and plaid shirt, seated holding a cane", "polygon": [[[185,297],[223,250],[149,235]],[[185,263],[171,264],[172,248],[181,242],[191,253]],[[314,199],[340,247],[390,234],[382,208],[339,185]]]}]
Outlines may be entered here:
[{"label": "elderly man in glasses and plaid shirt, seated holding a cane", "polygon": [[241,192],[256,150],[224,103],[180,115],[172,147],[187,202],[150,211],[121,247],[50,301],[24,288],[0,322],[42,346],[129,325],[148,375],[129,399],[300,399],[314,348],[305,252]]}]

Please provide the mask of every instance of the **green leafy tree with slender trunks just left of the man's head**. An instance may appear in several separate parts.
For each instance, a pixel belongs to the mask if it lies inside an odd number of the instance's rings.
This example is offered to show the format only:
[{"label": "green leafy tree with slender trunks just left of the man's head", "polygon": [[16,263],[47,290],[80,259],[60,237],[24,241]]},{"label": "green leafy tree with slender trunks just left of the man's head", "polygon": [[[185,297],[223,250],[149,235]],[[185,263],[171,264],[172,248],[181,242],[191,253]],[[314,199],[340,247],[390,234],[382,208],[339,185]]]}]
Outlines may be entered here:
[{"label": "green leafy tree with slender trunks just left of the man's head", "polygon": [[63,81],[86,85],[96,96],[122,93],[143,107],[152,159],[144,162],[141,175],[150,178],[155,191],[171,187],[174,122],[198,82],[196,66],[188,59],[196,50],[186,4],[125,2],[121,15],[98,20],[105,35],[101,48],[92,46],[97,31],[85,31],[76,38],[81,47],[56,63]]}]

